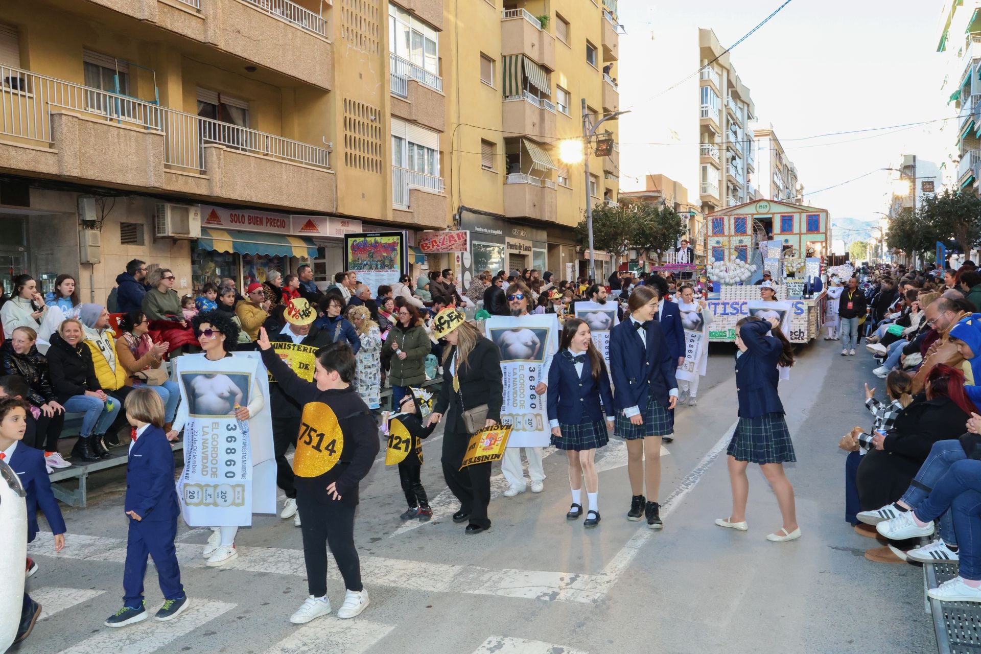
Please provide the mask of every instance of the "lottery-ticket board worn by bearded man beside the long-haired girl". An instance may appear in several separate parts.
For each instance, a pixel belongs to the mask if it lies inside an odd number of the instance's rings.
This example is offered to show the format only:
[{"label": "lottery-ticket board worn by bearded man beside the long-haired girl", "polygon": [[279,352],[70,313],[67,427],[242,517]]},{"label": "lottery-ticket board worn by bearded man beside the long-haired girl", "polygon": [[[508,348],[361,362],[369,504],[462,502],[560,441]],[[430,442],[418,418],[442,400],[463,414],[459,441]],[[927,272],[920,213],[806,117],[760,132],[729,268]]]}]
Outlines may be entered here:
[{"label": "lottery-ticket board worn by bearded man beside the long-haired girl", "polygon": [[558,350],[558,319],[554,314],[491,316],[484,325],[500,352],[504,384],[500,419],[512,426],[507,446],[546,447],[551,428],[544,395],[535,387],[548,382],[545,363]]}]

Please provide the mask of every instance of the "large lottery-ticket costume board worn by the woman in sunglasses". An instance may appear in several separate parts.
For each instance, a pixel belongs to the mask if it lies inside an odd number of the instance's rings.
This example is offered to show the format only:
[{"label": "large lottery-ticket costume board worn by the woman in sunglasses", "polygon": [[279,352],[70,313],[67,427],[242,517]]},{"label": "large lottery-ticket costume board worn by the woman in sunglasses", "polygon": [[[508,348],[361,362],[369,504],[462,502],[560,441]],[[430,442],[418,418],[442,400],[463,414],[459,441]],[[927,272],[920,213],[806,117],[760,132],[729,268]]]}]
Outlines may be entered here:
[{"label": "large lottery-ticket costume board worn by the woman in sunglasses", "polygon": [[[258,353],[236,352],[220,362],[186,354],[174,367],[187,407],[178,480],[184,522],[244,527],[252,524],[253,513],[276,513],[269,382]],[[239,422],[234,406],[248,405],[256,382],[263,409]]]}]

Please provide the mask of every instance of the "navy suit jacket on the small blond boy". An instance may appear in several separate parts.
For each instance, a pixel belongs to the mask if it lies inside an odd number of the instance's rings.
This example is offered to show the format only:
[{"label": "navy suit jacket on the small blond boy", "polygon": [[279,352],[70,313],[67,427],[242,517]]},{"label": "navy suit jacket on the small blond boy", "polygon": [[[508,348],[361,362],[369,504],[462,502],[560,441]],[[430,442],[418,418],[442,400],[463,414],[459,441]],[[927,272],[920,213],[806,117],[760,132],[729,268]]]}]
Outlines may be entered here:
[{"label": "navy suit jacket on the small blond boy", "polygon": [[146,428],[129,450],[125,506],[143,521],[173,520],[181,513],[174,450],[159,427]]}]

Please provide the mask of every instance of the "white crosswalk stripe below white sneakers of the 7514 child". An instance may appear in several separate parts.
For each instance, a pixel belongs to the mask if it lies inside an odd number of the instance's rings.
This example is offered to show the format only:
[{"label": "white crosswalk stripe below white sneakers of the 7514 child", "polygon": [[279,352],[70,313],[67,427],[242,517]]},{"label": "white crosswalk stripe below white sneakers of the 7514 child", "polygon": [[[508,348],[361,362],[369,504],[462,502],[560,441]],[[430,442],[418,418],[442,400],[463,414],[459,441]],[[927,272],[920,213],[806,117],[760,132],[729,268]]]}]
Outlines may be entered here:
[{"label": "white crosswalk stripe below white sneakers of the 7514 child", "polygon": [[317,618],[296,629],[266,650],[265,654],[363,654],[388,635],[393,625],[368,620],[339,620],[334,616]]}]

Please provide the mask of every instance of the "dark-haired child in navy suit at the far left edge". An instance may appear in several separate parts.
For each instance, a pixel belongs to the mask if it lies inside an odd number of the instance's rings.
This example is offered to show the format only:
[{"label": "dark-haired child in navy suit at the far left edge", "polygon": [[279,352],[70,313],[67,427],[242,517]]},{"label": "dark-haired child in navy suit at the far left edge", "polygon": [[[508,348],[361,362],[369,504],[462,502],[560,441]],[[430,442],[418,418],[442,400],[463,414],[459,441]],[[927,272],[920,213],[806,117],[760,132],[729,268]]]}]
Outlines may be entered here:
[{"label": "dark-haired child in navy suit at the far left edge", "polygon": [[[27,430],[29,406],[24,400],[6,397],[0,399],[0,459],[21,479],[27,502],[27,542],[37,535],[37,508],[44,512],[48,526],[55,534],[55,551],[65,547],[65,519],[62,518],[58,500],[51,492],[47,467],[44,464],[44,451],[27,447],[23,442]],[[28,567],[31,565],[27,560]],[[36,570],[36,568],[35,568]],[[21,609],[21,626],[14,642],[18,643],[30,635],[37,618],[41,615],[41,605],[24,593],[24,606]]]}]

